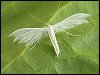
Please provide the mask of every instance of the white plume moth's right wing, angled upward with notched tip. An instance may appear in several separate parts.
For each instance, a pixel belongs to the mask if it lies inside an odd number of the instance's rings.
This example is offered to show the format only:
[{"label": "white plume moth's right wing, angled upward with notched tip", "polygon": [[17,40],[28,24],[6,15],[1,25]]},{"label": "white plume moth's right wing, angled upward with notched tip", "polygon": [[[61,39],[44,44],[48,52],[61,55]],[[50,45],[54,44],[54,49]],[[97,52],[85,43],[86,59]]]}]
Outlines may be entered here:
[{"label": "white plume moth's right wing, angled upward with notched tip", "polygon": [[55,30],[55,32],[70,29],[70,28],[73,28],[73,27],[78,26],[83,23],[89,23],[86,20],[86,18],[88,18],[89,16],[90,15],[86,14],[86,13],[74,14],[74,15],[64,19],[63,21],[61,21],[55,25],[52,25],[52,27]]}]

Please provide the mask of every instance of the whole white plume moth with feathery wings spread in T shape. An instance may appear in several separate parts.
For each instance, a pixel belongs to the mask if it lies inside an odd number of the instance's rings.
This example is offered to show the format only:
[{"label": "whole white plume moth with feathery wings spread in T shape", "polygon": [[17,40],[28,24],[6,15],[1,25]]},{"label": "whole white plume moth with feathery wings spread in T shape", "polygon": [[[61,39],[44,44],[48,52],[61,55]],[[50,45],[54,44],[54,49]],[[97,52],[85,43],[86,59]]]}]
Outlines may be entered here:
[{"label": "whole white plume moth with feathery wings spread in T shape", "polygon": [[[31,14],[29,14],[29,15],[31,15]],[[41,38],[44,38],[45,36],[47,36],[49,34],[50,40],[55,49],[55,53],[58,57],[58,55],[60,53],[60,49],[59,49],[59,45],[56,40],[55,33],[59,32],[59,31],[65,31],[66,29],[71,29],[80,24],[89,23],[86,20],[86,18],[88,18],[89,16],[90,15],[86,14],[86,13],[77,13],[77,14],[74,14],[74,15],[64,19],[63,21],[61,21],[57,24],[54,24],[54,25],[49,24],[48,27],[45,27],[45,28],[21,28],[21,29],[14,31],[9,36],[14,36],[15,37],[14,41],[19,40],[20,41],[19,43],[26,43],[26,46],[34,44],[34,46],[31,48],[31,49],[33,49]],[[32,16],[32,17],[34,17],[34,16]],[[34,17],[34,18],[37,19],[36,17]],[[37,19],[37,20],[44,24],[47,24],[47,23],[43,22],[42,20],[39,20],[39,19]],[[66,32],[66,33],[70,34],[68,32]],[[70,34],[70,35],[73,35],[73,34]]]}]

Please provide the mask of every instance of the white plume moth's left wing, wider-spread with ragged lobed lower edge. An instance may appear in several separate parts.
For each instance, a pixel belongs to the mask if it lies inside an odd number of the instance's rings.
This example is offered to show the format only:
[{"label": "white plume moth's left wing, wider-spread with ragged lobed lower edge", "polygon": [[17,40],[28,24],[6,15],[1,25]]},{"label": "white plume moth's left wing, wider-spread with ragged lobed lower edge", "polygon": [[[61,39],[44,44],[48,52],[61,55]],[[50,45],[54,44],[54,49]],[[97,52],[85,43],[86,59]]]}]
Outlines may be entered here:
[{"label": "white plume moth's left wing, wider-spread with ragged lobed lower edge", "polygon": [[29,46],[43,38],[44,35],[47,35],[46,28],[21,28],[14,31],[9,36],[14,36],[14,41],[19,40],[19,43],[26,43],[26,46]]}]

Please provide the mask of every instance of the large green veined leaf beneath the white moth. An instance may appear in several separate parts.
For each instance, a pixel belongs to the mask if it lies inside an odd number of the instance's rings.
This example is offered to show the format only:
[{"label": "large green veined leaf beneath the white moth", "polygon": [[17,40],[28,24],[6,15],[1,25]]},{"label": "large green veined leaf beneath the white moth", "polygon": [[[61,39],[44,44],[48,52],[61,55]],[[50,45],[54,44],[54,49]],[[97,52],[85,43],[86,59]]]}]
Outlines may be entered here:
[{"label": "large green veined leaf beneath the white moth", "polygon": [[[99,2],[98,1],[2,1],[1,2],[1,73],[2,74],[98,74],[99,73]],[[88,24],[67,30],[80,36],[58,32],[57,58],[50,38],[40,40],[34,49],[13,43],[7,37],[19,28],[44,27],[27,13],[51,24],[76,14],[87,13]]]}]

